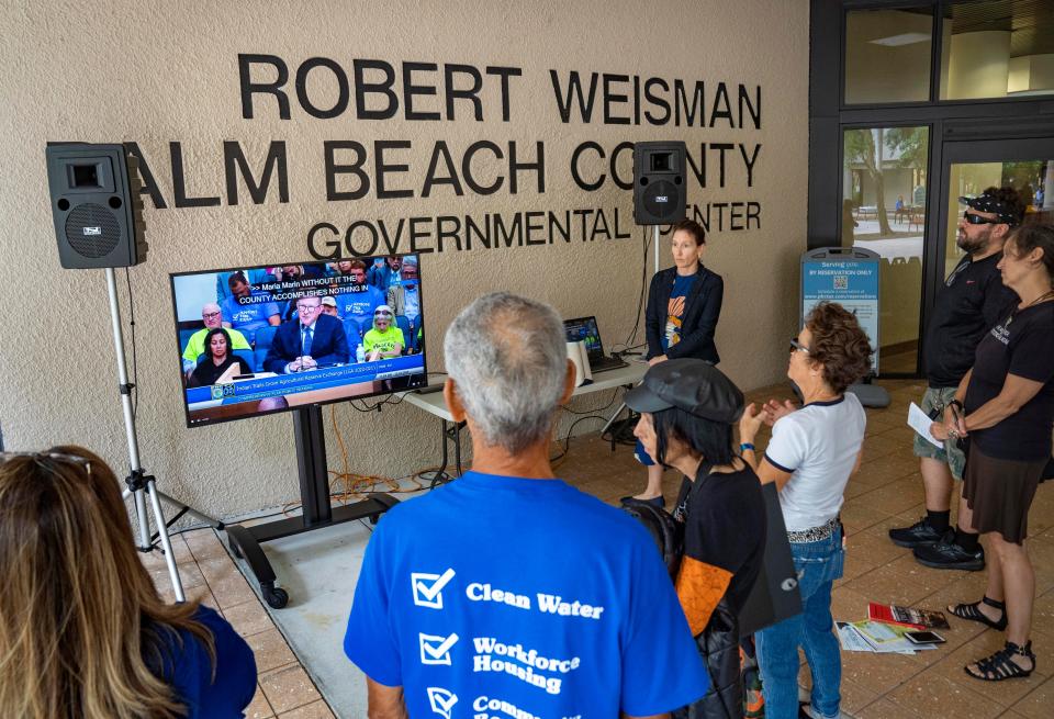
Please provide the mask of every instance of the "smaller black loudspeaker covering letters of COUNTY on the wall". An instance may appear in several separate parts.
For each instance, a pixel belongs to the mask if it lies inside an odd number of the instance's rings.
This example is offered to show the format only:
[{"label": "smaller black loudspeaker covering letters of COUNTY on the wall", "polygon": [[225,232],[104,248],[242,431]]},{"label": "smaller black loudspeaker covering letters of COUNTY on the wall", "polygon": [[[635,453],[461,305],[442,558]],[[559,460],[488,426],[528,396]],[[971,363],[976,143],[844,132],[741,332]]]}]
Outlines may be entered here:
[{"label": "smaller black loudspeaker covering letters of COUNTY on the wall", "polygon": [[669,225],[685,217],[684,143],[633,145],[633,222]]}]

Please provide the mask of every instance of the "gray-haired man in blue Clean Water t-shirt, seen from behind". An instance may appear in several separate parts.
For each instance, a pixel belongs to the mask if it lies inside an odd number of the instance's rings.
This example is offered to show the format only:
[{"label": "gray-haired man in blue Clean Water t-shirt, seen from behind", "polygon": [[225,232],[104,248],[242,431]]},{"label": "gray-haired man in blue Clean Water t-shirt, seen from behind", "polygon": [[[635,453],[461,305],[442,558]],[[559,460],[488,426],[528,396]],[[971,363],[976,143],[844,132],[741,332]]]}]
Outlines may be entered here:
[{"label": "gray-haired man in blue Clean Water t-shirt, seen from behind", "polygon": [[553,478],[574,390],[563,323],[480,297],[445,339],[444,397],[473,470],[393,507],[370,539],[344,641],[370,714],[665,716],[708,679],[666,569],[628,514]]}]

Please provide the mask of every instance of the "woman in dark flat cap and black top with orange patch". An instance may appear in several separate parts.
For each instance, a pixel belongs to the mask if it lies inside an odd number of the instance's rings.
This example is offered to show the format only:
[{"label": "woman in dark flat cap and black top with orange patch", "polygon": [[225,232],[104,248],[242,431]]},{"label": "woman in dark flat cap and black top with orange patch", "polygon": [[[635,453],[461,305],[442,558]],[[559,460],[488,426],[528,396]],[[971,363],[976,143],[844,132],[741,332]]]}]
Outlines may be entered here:
[{"label": "woman in dark flat cap and black top with orange patch", "polygon": [[[758,475],[732,452],[743,393],[713,364],[675,359],[653,366],[626,394],[641,413],[633,434],[659,467],[684,474],[674,518],[684,525],[677,597],[706,660],[710,688],[674,716],[742,717],[737,617],[765,544]],[[683,711],[688,711],[685,708]]]}]

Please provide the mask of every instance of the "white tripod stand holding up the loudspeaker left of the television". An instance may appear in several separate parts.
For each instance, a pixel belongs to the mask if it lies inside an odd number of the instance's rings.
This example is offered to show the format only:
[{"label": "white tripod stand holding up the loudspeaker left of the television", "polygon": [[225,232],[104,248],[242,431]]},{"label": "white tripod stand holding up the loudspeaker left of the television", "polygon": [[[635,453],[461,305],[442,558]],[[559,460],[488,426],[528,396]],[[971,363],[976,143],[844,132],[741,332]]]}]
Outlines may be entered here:
[{"label": "white tripod stand holding up the loudspeaker left of the television", "polygon": [[[186,602],[183,594],[183,584],[179,578],[179,570],[176,568],[176,555],[172,553],[171,538],[168,536],[168,528],[183,515],[190,516],[210,525],[213,529],[223,529],[223,523],[208,517],[197,509],[192,509],[172,497],[157,491],[156,480],[153,475],[143,471],[139,463],[139,442],[135,432],[135,412],[132,408],[132,387],[128,383],[128,367],[124,356],[124,336],[121,330],[121,306],[117,303],[117,282],[112,267],[105,268],[106,291],[110,295],[110,321],[113,328],[113,349],[117,362],[117,385],[121,392],[121,409],[124,414],[124,431],[128,443],[128,462],[131,471],[125,478],[127,487],[124,490],[124,498],[133,498],[135,516],[138,525],[138,538],[136,547],[141,552],[152,552],[157,549],[155,542],[160,540],[161,553],[165,555],[165,564],[168,566],[168,574],[172,580],[172,591],[176,593],[177,602]],[[180,507],[176,516],[168,523],[165,521],[165,513],[161,509],[161,499]],[[156,536],[150,535],[149,517],[147,515],[147,502],[150,505],[150,512],[154,515],[154,524],[157,527]]]}]

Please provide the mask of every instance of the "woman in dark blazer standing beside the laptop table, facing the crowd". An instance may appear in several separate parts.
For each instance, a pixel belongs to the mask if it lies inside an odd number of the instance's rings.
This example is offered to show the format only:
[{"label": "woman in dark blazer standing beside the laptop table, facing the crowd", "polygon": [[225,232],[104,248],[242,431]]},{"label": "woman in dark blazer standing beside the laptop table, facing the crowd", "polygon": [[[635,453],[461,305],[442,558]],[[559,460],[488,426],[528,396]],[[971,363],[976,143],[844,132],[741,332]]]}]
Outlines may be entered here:
[{"label": "woman in dark blazer standing beside the laptop table, facing the crowd", "polygon": [[[714,333],[721,315],[725,281],[703,267],[706,231],[699,223],[682,220],[673,226],[671,237],[673,267],[657,272],[648,291],[648,363],[691,357],[717,364],[720,357]],[[651,460],[640,442],[636,454],[648,468],[648,486],[635,498],[662,507],[662,467]]]}]

